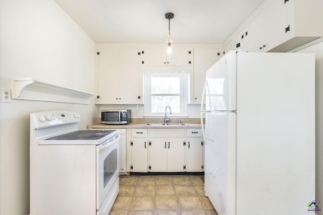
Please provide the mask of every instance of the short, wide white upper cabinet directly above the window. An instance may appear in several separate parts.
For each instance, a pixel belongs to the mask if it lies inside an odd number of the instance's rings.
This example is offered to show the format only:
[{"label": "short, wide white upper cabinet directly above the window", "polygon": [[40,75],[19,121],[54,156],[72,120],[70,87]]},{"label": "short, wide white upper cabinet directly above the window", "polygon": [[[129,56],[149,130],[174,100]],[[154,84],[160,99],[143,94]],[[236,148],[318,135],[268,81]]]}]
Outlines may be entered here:
[{"label": "short, wide white upper cabinet directly above the window", "polygon": [[141,64],[144,66],[187,66],[191,64],[189,48],[173,47],[171,54],[165,48],[144,48],[141,51]]}]

